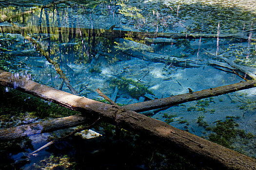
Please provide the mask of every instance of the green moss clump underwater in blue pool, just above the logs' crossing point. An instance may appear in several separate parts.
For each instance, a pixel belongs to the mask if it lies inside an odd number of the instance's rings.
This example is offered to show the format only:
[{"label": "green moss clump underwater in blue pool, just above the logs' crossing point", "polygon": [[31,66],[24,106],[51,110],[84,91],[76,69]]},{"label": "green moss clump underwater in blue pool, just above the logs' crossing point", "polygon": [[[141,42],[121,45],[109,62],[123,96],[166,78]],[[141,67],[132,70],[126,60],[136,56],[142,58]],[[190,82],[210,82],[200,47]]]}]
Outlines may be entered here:
[{"label": "green moss clump underwater in blue pool, just above the logs' crossing point", "polygon": [[136,82],[132,79],[127,79],[125,77],[121,77],[121,79],[115,78],[111,80],[110,86],[113,88],[117,86],[118,89],[128,92],[131,97],[136,99],[144,96],[146,93],[154,95],[153,92],[150,91],[146,85],[143,85],[140,82]]}]

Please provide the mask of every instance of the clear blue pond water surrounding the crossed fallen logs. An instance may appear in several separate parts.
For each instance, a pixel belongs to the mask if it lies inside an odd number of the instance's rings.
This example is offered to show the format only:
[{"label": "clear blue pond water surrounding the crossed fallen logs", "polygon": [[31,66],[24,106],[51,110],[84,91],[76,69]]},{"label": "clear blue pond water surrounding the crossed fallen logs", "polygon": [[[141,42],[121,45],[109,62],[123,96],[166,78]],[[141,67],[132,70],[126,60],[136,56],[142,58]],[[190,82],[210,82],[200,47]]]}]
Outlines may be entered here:
[{"label": "clear blue pond water surrounding the crossed fallen logs", "polygon": [[[255,0],[62,0],[51,3],[52,0],[0,1],[0,69],[31,75],[35,82],[71,93],[64,81],[66,77],[80,96],[102,101],[96,92],[99,88],[118,104],[166,98],[188,93],[190,89],[199,91],[231,85],[255,76]],[[51,5],[40,8],[47,4]],[[30,10],[33,12],[7,19]],[[58,67],[63,74],[56,71]],[[12,91],[1,90],[3,99]],[[20,95],[17,93],[14,92],[14,96]],[[26,96],[25,100],[29,98]],[[46,119],[23,112],[22,118],[30,122]],[[8,124],[9,120],[2,118],[11,114],[3,111],[1,114],[0,128],[24,124],[19,118],[16,123]],[[142,114],[256,157],[256,88]],[[61,133],[64,131],[57,132]],[[47,143],[49,136],[52,134],[30,137],[26,139],[29,146],[21,142],[24,146],[20,153],[3,157],[11,162],[19,160],[24,153]],[[82,148],[84,153],[80,154],[88,153],[98,160],[107,155],[107,151],[99,154],[102,152],[97,149],[104,145],[105,138],[86,141],[95,151],[79,145],[84,142],[80,138],[70,140],[66,147],[63,142],[61,149],[56,145],[42,151],[30,162],[22,163],[21,169],[29,169],[51,154],[58,155],[59,150],[66,150],[62,155],[76,157],[75,153],[80,153]],[[113,153],[119,153],[121,144],[127,141],[118,142],[118,147],[107,143],[116,150]],[[71,142],[79,147],[71,149]],[[153,157],[152,152],[147,156]],[[62,163],[66,161],[63,157],[59,159]],[[83,159],[80,163],[91,160],[89,156]],[[107,161],[110,160],[106,158],[98,169],[118,169],[123,163],[110,165]],[[155,160],[154,166],[159,164],[168,169],[169,164],[159,162]],[[7,165],[1,163],[1,166]],[[153,169],[159,169],[156,167]],[[151,169],[138,160],[130,168]]]}]

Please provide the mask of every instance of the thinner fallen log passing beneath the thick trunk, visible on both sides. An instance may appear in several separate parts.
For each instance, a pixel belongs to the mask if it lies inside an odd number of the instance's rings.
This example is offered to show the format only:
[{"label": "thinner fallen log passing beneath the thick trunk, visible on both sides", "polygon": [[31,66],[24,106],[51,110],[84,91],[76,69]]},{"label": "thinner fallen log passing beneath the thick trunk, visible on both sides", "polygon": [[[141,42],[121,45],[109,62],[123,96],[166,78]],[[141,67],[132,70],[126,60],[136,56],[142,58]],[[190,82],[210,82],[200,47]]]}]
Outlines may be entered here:
[{"label": "thinner fallen log passing beneath the thick trunk, visible on both sides", "polygon": [[[0,81],[0,85],[2,85],[1,81]],[[184,103],[184,102],[195,101],[195,100],[204,99],[207,97],[213,97],[213,96],[227,94],[234,91],[253,88],[255,87],[255,85],[256,85],[256,82],[254,81],[240,82],[232,85],[225,85],[225,86],[220,86],[216,88],[210,88],[210,89],[201,90],[193,93],[186,93],[186,94],[181,94],[181,95],[172,96],[168,98],[156,99],[148,102],[128,104],[122,107],[124,107],[127,110],[141,112],[141,111],[153,110],[156,108],[170,107],[170,106]],[[19,138],[25,135],[30,136],[30,135],[35,135],[35,134],[44,133],[44,132],[52,132],[54,130],[57,130],[56,127],[58,127],[58,129],[63,129],[68,127],[78,126],[80,124],[88,122],[88,120],[81,115],[70,116],[67,118],[68,119],[64,119],[64,118],[60,119],[61,121],[60,120],[45,121],[43,127],[47,127],[47,130],[45,129],[45,130],[42,130],[41,132],[38,131],[38,129],[34,128],[38,126],[38,123],[17,126],[14,128],[0,129],[0,140],[9,140],[9,139]],[[15,128],[17,128],[17,131],[15,130]],[[27,129],[31,129],[29,134],[26,134]],[[14,133],[11,135],[9,134],[9,132],[14,132]],[[25,134],[25,135],[22,135],[22,134]]]}]

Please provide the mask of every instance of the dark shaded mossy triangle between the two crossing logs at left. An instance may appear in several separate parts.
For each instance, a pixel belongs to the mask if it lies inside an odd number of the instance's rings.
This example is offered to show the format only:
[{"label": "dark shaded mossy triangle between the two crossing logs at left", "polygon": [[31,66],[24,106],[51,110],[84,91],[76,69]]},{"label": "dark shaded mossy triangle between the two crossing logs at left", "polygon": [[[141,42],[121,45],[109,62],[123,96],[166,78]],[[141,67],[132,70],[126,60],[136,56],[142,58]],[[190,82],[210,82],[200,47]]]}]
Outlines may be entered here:
[{"label": "dark shaded mossy triangle between the two crossing logs at left", "polygon": [[0,128],[78,113],[8,87],[0,86],[0,96]]}]

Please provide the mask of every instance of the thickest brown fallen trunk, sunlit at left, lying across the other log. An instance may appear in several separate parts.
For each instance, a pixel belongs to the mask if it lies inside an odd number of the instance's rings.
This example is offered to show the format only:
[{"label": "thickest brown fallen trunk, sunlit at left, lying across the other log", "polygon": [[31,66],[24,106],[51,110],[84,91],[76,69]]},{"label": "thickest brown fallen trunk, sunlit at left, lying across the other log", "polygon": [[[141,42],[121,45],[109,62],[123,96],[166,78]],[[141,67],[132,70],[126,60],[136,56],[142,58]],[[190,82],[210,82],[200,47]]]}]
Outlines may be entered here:
[{"label": "thickest brown fallen trunk, sunlit at left, lying across the other log", "polygon": [[[256,160],[249,156],[174,128],[157,119],[148,118],[134,111],[129,111],[124,107],[79,97],[46,85],[40,85],[19,76],[14,76],[2,70],[0,70],[0,85],[15,87],[18,90],[47,101],[80,111],[85,116],[90,117],[93,114],[105,121],[116,124],[119,128],[124,128],[140,135],[151,136],[158,141],[174,146],[174,149],[178,149],[180,152],[186,152],[188,155],[193,156],[196,155],[200,160],[208,160],[211,165],[218,168],[256,170]],[[211,89],[209,93],[212,93]]]}]

